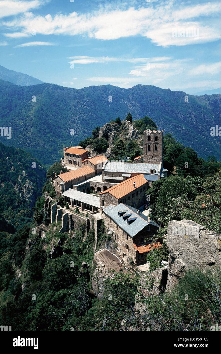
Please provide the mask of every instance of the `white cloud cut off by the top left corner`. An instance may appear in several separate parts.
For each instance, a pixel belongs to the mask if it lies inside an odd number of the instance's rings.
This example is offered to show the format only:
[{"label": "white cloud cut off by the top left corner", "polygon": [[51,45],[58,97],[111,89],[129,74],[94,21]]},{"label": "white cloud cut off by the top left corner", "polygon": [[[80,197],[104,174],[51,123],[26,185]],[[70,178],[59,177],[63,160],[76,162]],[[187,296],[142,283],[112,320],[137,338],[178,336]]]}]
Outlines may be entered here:
[{"label": "white cloud cut off by the top left corner", "polygon": [[18,0],[1,0],[0,1],[0,18],[6,16],[17,15],[18,13],[29,11],[37,8],[42,1],[18,1]]}]

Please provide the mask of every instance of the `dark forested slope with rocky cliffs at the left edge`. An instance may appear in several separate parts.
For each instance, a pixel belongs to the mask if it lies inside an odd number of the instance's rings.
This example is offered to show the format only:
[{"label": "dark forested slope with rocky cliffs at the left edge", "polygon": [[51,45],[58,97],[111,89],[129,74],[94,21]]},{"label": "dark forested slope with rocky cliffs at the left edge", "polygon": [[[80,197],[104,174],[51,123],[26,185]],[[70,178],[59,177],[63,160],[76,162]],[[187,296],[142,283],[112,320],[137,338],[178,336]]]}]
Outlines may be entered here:
[{"label": "dark forested slope with rocky cliffs at the left edge", "polygon": [[[33,156],[0,143],[0,223],[6,219],[17,229],[31,221],[45,177],[45,169]],[[11,227],[8,230],[11,232]]]}]

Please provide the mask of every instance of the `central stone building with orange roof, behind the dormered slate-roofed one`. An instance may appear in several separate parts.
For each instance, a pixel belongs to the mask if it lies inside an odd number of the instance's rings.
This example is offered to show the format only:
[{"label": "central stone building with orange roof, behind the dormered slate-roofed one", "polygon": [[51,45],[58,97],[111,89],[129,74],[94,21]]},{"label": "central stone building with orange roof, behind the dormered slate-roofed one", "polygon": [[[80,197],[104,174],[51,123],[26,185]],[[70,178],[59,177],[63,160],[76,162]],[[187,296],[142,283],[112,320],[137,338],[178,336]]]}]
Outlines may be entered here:
[{"label": "central stone building with orange roof, behind the dormered slate-roofed one", "polygon": [[143,174],[131,177],[100,193],[100,207],[125,203],[138,208],[145,203],[147,189],[148,181]]}]

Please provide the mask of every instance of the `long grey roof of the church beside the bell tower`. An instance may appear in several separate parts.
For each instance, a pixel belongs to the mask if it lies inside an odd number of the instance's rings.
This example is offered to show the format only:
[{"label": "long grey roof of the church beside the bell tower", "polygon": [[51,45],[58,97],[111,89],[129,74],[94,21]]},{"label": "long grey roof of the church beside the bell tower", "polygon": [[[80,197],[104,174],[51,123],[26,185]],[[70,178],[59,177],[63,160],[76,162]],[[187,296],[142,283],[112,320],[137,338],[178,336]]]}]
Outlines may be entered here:
[{"label": "long grey roof of the church beside the bell tower", "polygon": [[159,171],[159,164],[132,164],[130,162],[108,161],[104,167],[104,172],[125,172],[125,173],[150,173],[150,170]]}]

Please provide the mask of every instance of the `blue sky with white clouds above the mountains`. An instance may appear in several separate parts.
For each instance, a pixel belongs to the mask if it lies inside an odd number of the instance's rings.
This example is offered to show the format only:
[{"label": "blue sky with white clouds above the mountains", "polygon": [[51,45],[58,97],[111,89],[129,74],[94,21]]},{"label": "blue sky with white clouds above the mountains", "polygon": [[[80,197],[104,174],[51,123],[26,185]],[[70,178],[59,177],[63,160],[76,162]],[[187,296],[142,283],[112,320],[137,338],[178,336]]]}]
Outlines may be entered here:
[{"label": "blue sky with white clouds above the mountains", "polygon": [[220,1],[0,0],[0,65],[82,88],[221,87]]}]

